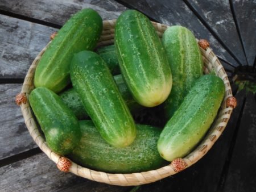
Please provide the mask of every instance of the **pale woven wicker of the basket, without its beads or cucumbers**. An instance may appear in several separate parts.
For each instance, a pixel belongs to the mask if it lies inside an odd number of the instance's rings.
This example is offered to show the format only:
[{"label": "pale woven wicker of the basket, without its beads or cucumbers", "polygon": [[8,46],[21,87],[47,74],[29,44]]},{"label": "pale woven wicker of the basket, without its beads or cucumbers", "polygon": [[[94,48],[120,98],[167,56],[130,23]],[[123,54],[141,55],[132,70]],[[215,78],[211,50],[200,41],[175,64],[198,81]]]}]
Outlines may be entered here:
[{"label": "pale woven wicker of the basket, without its beads or cucumbers", "polygon": [[[160,23],[152,22],[158,35],[162,37],[163,32],[167,29],[168,26]],[[104,31],[102,33],[100,43],[98,46],[104,46],[114,43],[114,27],[115,27],[115,20],[106,20],[104,21]],[[51,42],[50,42],[51,43]],[[41,56],[43,55],[44,51],[47,49],[47,46],[39,53],[39,55],[35,58],[34,62],[30,66],[30,69],[27,72],[26,78],[24,80],[24,84],[22,87],[22,93],[26,94],[28,97],[31,90],[34,89],[33,78],[36,69],[36,65],[38,64]],[[208,131],[207,135],[201,141],[199,146],[191,152],[188,156],[184,157],[183,160],[185,162],[186,168],[195,164],[201,157],[203,157],[209,149],[213,146],[216,142],[218,137],[220,137],[222,131],[226,127],[230,115],[232,113],[232,107],[226,107],[226,99],[232,97],[232,90],[229,84],[228,76],[221,65],[220,61],[217,59],[216,55],[212,52],[212,49],[201,48],[201,53],[203,55],[204,61],[204,73],[207,74],[209,72],[214,71],[217,76],[219,76],[225,84],[225,98],[222,102],[220,111],[212,127]],[[51,149],[47,146],[44,137],[41,135],[39,128],[36,123],[36,119],[34,115],[32,115],[32,110],[28,102],[22,103],[20,105],[22,109],[22,114],[24,116],[24,121],[30,132],[31,136],[35,140],[36,144],[42,149],[44,153],[56,164],[60,159],[60,156],[51,151]],[[75,162],[72,162],[71,168],[69,172],[76,174],[77,176],[81,176],[84,178],[88,178],[89,180],[97,181],[97,182],[104,182],[109,183],[111,185],[121,185],[121,186],[133,186],[133,185],[142,185],[145,183],[155,182],[161,180],[162,178],[171,176],[177,173],[177,169],[173,164],[164,166],[160,169],[150,170],[148,172],[142,173],[130,173],[130,174],[111,174],[111,173],[104,173],[104,172],[97,172],[95,170],[91,170],[88,168],[84,168],[80,165],[77,165]]]}]

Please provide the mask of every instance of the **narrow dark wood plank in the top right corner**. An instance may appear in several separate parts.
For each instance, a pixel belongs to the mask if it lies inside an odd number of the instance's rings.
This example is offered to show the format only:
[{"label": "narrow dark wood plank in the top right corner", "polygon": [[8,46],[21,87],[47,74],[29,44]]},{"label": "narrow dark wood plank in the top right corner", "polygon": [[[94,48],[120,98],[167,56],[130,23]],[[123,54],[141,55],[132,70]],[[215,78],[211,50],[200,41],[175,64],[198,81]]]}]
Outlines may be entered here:
[{"label": "narrow dark wood plank in the top right corner", "polygon": [[231,1],[236,15],[238,30],[241,34],[243,47],[250,66],[256,56],[256,1]]}]

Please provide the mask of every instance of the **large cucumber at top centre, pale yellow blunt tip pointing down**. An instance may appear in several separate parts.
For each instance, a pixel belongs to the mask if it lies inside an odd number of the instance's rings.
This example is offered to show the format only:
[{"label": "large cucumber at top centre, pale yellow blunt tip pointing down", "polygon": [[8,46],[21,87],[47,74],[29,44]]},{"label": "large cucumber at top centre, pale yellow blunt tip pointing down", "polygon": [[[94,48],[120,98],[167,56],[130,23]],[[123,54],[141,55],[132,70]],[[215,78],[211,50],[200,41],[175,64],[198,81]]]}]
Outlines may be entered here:
[{"label": "large cucumber at top centre, pale yellow blunt tip pointing down", "polygon": [[115,26],[115,48],[134,99],[146,107],[164,102],[172,87],[171,69],[150,20],[141,12],[124,11]]}]

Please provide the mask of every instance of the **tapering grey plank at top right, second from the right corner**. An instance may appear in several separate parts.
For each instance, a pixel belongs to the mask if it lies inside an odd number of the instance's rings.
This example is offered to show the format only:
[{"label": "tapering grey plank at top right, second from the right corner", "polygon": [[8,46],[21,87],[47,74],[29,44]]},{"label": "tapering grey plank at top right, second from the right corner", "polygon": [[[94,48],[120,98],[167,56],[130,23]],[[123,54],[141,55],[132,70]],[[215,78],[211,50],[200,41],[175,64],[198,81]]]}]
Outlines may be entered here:
[{"label": "tapering grey plank at top right, second from the right corner", "polygon": [[229,0],[187,0],[242,65],[247,65]]}]

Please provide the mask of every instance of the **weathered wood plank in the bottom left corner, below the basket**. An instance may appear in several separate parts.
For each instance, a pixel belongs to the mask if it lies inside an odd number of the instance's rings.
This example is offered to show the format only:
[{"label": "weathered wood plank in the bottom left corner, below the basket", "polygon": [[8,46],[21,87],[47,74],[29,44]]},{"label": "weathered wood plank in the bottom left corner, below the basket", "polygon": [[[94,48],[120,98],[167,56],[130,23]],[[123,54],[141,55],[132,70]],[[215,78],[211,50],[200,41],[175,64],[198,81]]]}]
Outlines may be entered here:
[{"label": "weathered wood plank in the bottom left corner, below the basket", "polygon": [[131,187],[90,181],[72,173],[60,172],[41,153],[0,168],[0,191],[129,191]]}]

